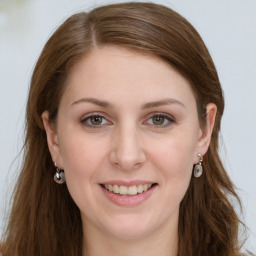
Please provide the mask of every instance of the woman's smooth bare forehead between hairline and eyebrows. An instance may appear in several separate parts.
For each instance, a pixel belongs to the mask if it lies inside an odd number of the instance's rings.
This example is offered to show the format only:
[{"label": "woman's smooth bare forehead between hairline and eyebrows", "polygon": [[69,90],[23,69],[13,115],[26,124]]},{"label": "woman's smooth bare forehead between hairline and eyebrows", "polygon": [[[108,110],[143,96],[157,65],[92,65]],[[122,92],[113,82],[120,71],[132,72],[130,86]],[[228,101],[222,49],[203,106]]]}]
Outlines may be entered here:
[{"label": "woman's smooth bare forehead between hairline and eyebrows", "polygon": [[82,96],[113,101],[130,96],[136,102],[194,98],[189,82],[168,63],[116,46],[96,48],[72,68],[63,97]]}]

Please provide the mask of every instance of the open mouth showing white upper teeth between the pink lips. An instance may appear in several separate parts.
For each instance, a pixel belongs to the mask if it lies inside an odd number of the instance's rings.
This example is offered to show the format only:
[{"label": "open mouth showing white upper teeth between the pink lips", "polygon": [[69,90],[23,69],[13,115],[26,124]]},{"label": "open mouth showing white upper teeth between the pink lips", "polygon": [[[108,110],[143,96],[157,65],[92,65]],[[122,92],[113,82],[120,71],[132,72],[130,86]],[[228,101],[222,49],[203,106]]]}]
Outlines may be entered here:
[{"label": "open mouth showing white upper teeth between the pink lips", "polygon": [[143,184],[143,185],[140,184],[140,185],[133,185],[133,186],[101,184],[101,186],[104,189],[121,196],[135,196],[137,194],[142,194],[152,189],[156,185],[157,183]]}]

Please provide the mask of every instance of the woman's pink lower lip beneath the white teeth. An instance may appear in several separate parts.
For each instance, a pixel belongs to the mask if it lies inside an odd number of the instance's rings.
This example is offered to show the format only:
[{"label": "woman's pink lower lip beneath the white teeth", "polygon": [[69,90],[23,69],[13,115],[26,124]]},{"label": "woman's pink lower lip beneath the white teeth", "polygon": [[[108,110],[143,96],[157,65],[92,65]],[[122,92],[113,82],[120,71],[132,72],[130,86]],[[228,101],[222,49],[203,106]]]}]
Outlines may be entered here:
[{"label": "woman's pink lower lip beneath the white teeth", "polygon": [[147,190],[141,194],[134,195],[134,196],[122,196],[120,194],[115,194],[113,192],[106,190],[101,185],[100,185],[100,187],[101,187],[102,191],[104,192],[105,196],[111,202],[113,202],[119,206],[136,206],[136,205],[139,205],[139,204],[143,203],[144,201],[146,201],[152,195],[152,193],[155,191],[157,185],[154,185],[149,190]]}]

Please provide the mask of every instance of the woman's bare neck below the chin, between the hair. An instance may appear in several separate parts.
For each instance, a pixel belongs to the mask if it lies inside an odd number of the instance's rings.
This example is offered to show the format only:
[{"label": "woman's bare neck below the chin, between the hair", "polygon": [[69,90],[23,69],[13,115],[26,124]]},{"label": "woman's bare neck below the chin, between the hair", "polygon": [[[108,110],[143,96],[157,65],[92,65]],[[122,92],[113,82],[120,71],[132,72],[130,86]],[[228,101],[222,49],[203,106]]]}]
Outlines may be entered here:
[{"label": "woman's bare neck below the chin, between the hair", "polygon": [[[171,229],[170,229],[171,228]],[[86,231],[86,232],[85,232]],[[177,256],[178,224],[163,225],[159,230],[136,239],[122,239],[86,225],[83,256]]]}]

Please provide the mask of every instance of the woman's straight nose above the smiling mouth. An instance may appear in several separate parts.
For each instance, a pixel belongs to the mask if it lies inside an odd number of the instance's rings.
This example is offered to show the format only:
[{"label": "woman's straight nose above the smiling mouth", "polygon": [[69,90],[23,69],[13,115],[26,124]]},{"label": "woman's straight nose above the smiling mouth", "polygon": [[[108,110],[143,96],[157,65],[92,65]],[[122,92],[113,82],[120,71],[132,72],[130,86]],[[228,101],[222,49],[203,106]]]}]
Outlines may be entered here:
[{"label": "woman's straight nose above the smiling mouth", "polygon": [[146,161],[142,144],[136,127],[117,130],[112,141],[111,163],[125,171],[140,168]]}]

